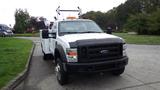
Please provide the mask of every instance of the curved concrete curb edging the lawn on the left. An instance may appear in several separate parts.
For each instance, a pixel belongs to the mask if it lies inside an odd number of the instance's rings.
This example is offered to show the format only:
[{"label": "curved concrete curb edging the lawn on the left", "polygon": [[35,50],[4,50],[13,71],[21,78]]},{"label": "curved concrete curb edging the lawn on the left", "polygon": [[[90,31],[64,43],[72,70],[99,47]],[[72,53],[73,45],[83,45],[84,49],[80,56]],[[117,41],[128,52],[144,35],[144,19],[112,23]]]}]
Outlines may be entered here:
[{"label": "curved concrete curb edging the lawn on the left", "polygon": [[20,74],[18,74],[17,77],[11,80],[6,86],[4,86],[1,90],[14,90],[28,76],[34,49],[35,49],[35,43],[33,42],[33,46],[30,51],[30,55],[28,57],[28,62],[25,66],[25,69]]}]

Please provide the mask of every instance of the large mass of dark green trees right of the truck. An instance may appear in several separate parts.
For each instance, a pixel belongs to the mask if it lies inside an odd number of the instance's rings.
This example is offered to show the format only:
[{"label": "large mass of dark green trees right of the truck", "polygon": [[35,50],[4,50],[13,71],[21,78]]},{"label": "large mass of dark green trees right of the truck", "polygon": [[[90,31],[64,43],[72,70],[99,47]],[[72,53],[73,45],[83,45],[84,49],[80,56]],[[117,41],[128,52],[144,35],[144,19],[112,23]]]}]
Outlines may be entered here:
[{"label": "large mass of dark green trees right of the truck", "polygon": [[124,30],[127,28],[131,29],[129,31],[137,31],[139,34],[157,34],[155,31],[158,30],[159,24],[156,19],[152,18],[158,18],[158,14],[151,14],[156,12],[158,8],[160,8],[160,0],[127,0],[106,13],[91,11],[83,14],[82,18],[94,20],[102,29],[112,27]]}]

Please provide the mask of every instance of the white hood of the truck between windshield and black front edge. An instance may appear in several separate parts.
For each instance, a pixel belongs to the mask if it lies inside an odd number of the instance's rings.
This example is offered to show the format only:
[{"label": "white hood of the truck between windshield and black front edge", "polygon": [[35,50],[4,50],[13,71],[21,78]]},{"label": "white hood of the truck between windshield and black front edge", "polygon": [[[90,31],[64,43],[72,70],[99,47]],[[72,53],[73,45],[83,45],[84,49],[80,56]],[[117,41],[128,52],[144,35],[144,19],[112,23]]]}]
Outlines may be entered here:
[{"label": "white hood of the truck between windshield and black front edge", "polygon": [[119,38],[114,35],[106,34],[106,33],[84,33],[84,34],[68,34],[60,37],[65,42],[75,42],[77,40],[85,40],[85,39],[104,39],[104,38]]}]

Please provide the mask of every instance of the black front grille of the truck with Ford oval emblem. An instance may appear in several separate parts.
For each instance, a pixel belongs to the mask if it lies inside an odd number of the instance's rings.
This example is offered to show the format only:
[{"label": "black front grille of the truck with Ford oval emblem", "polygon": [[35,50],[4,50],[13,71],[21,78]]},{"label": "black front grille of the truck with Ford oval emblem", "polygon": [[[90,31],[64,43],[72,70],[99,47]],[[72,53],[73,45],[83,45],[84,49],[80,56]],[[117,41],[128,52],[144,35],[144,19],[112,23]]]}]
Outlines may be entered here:
[{"label": "black front grille of the truck with Ford oval emblem", "polygon": [[100,44],[78,47],[78,62],[100,62],[122,57],[122,44]]}]

